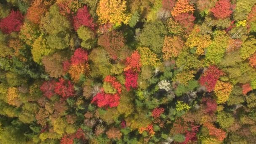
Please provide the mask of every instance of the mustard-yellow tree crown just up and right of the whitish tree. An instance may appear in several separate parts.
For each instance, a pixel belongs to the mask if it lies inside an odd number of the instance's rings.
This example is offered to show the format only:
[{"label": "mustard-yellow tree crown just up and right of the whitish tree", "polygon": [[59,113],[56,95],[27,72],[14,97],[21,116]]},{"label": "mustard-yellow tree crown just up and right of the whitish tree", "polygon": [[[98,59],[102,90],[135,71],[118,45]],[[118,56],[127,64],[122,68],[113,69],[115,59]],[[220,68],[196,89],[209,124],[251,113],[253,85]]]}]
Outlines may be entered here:
[{"label": "mustard-yellow tree crown just up and right of the whitish tree", "polygon": [[188,85],[188,81],[195,77],[195,71],[182,71],[175,76],[175,80],[185,86]]}]

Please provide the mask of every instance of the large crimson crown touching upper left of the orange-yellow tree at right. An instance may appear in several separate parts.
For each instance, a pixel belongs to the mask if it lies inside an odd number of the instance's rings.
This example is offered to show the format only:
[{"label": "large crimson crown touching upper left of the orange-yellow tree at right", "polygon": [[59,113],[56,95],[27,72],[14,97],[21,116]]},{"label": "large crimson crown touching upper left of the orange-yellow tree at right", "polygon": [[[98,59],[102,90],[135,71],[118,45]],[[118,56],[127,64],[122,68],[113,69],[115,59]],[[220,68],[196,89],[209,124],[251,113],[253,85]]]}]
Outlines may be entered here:
[{"label": "large crimson crown touching upper left of the orange-yellow tree at right", "polygon": [[221,75],[223,75],[223,72],[218,67],[210,66],[200,77],[199,83],[205,86],[208,92],[211,92],[214,90],[217,80]]}]

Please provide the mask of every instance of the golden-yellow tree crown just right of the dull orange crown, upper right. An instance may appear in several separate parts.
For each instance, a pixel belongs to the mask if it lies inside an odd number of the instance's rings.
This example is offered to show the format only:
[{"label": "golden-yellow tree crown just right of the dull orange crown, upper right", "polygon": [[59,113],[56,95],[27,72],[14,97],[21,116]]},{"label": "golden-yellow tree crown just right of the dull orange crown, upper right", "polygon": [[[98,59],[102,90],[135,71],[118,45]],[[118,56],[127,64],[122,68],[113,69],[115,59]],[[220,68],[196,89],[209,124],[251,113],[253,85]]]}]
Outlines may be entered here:
[{"label": "golden-yellow tree crown just right of the dull orange crown, upper right", "polygon": [[185,45],[189,48],[197,47],[196,54],[203,55],[204,49],[211,45],[211,37],[210,35],[202,35],[200,33],[200,28],[195,26],[187,38]]}]

